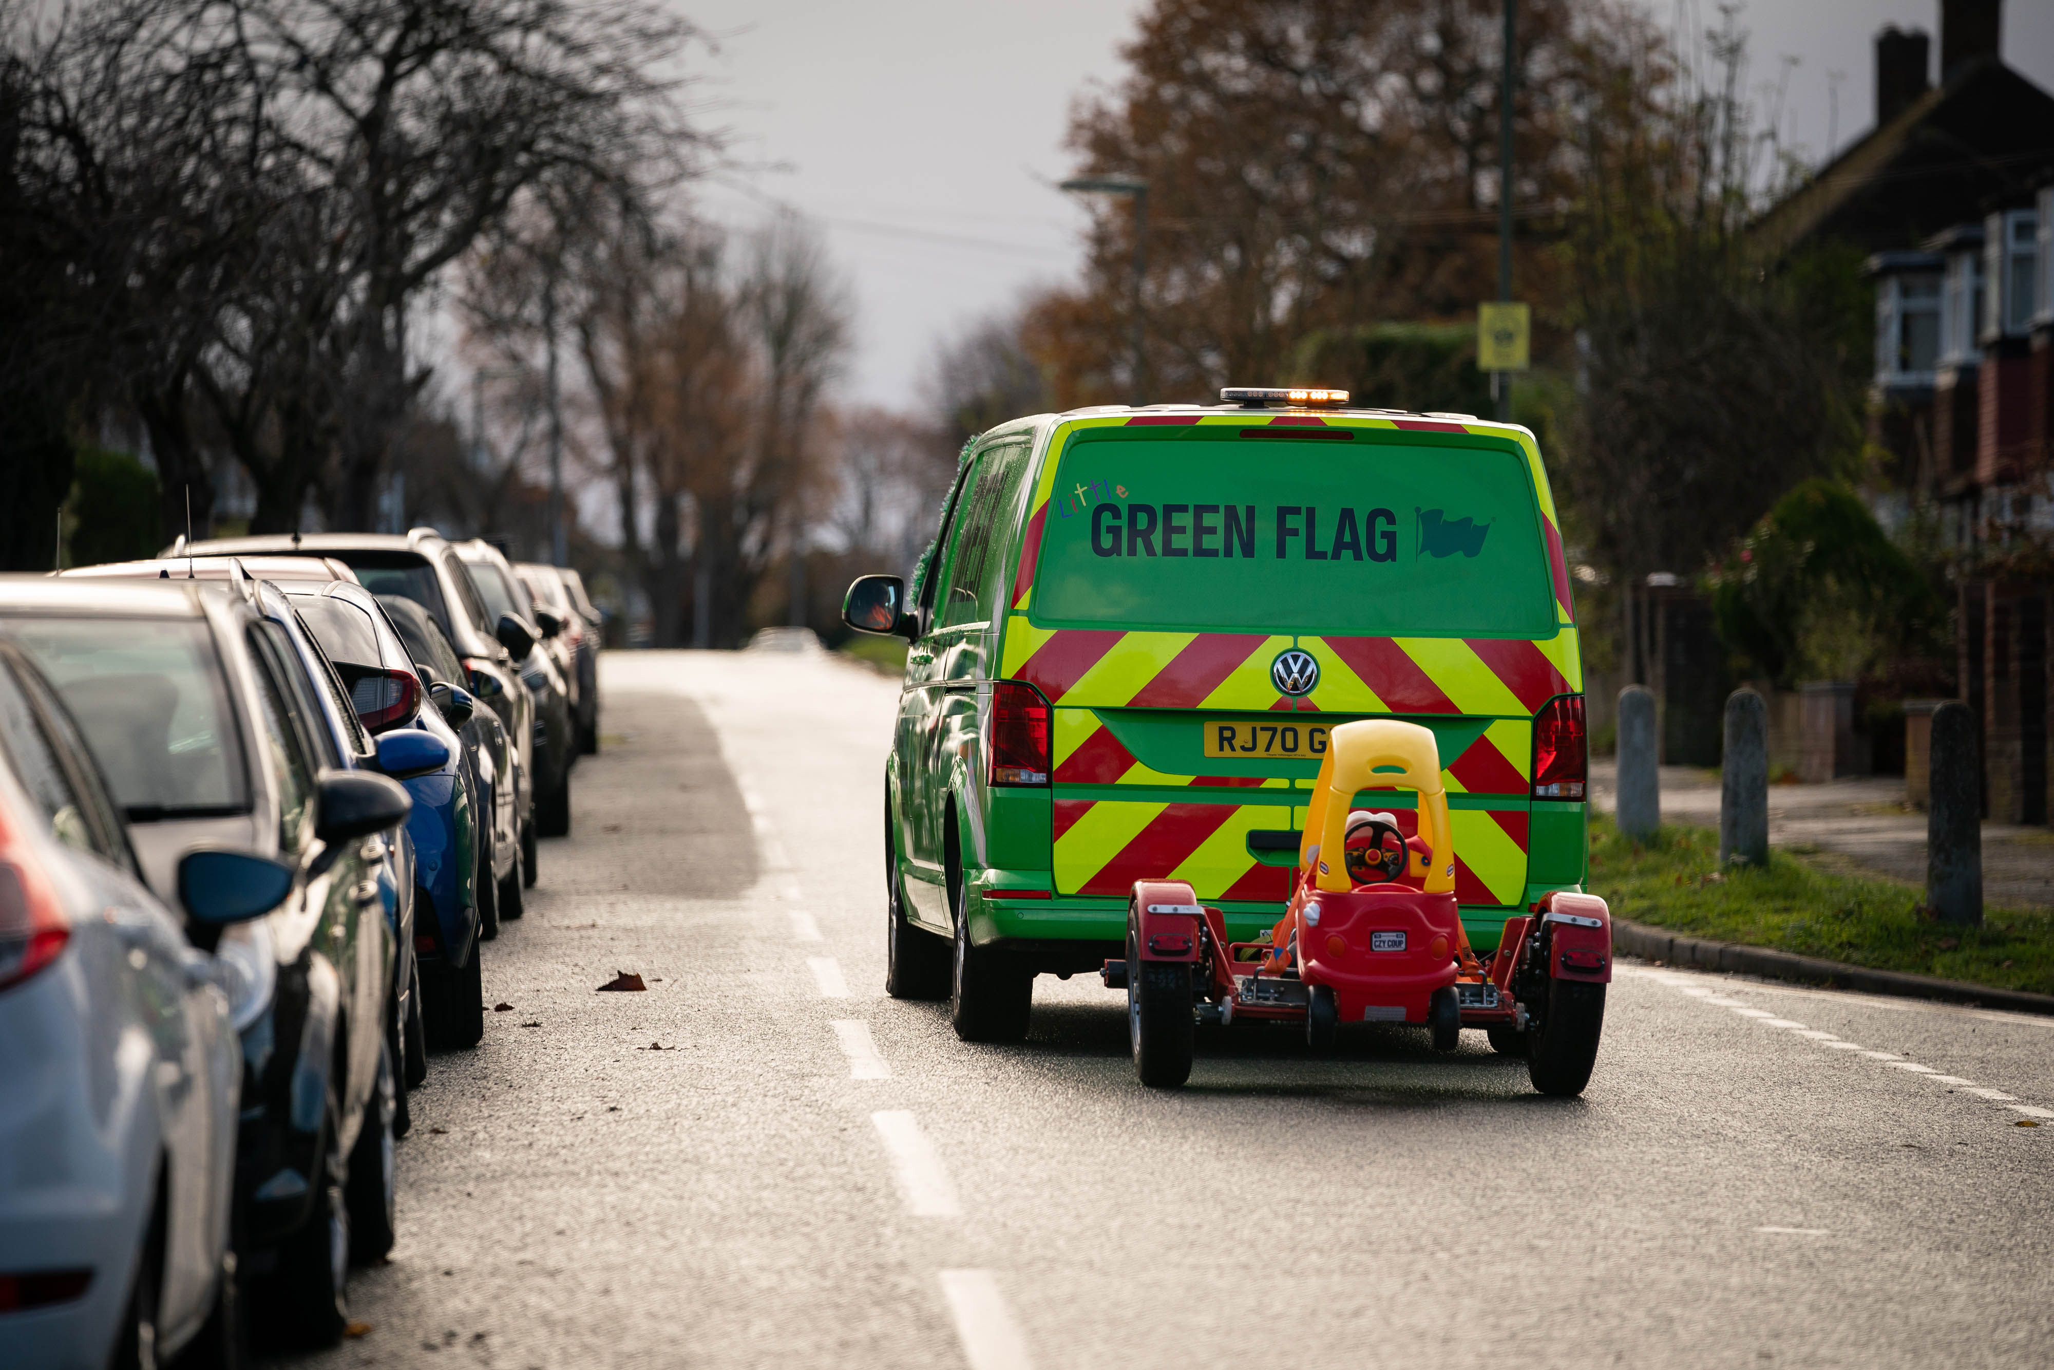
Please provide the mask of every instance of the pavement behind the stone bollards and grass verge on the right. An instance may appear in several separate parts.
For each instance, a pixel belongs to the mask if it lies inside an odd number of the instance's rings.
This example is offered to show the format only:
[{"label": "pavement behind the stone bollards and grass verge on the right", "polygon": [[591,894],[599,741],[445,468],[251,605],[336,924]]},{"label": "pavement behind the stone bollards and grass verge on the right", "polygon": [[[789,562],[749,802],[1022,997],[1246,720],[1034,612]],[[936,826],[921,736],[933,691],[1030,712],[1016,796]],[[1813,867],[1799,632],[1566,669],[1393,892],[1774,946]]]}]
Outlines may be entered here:
[{"label": "pavement behind the stone bollards and grass verge on the right", "polygon": [[[1662,766],[1662,822],[1719,826],[1719,776]],[[1619,762],[1590,762],[1590,799],[1619,807]],[[1849,776],[1768,787],[1768,844],[1853,875],[1925,887],[1927,815],[1904,803],[1904,776]],[[1982,824],[1982,898],[1999,908],[2054,910],[2054,830]]]}]

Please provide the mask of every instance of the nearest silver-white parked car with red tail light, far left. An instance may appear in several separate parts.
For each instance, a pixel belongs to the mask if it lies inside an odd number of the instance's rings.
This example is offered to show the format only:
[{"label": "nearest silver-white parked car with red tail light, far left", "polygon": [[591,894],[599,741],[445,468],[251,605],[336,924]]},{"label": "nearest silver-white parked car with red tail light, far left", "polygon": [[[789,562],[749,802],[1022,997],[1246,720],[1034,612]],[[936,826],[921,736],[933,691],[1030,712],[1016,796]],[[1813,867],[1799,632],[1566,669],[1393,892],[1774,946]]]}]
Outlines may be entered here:
[{"label": "nearest silver-white parked car with red tail light, far left", "polygon": [[[201,930],[290,881],[199,852]],[[222,879],[226,865],[228,879]],[[193,873],[191,869],[187,871]],[[234,1021],[261,976],[150,893],[76,723],[0,643],[0,1360],[236,1366]]]}]

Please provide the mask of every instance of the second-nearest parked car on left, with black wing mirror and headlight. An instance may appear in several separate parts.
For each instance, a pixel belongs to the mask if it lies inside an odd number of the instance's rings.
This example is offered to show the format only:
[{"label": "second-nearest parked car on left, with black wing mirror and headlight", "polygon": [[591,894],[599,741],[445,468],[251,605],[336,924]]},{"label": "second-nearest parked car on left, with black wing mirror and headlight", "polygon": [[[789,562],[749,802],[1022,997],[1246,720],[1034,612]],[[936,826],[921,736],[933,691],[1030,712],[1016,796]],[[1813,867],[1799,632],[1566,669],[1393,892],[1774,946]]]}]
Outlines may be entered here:
[{"label": "second-nearest parked car on left, with black wing mirror and headlight", "polygon": [[394,731],[378,739],[384,774],[347,770],[294,639],[226,585],[4,577],[0,633],[78,719],[158,898],[177,896],[195,848],[290,873],[267,912],[216,947],[255,986],[236,1013],[238,1257],[253,1308],[298,1341],[333,1343],[349,1259],[392,1247],[380,873],[411,809],[396,778],[442,766],[448,748]]}]

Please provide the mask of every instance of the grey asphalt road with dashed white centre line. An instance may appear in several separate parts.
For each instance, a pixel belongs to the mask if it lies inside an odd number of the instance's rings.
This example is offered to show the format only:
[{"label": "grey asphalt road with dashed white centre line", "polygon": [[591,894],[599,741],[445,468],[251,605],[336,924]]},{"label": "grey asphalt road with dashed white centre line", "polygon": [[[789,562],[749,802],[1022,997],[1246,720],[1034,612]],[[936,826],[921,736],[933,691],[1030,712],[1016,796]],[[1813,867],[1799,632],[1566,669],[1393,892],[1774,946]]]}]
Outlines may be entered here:
[{"label": "grey asphalt road with dashed white centre line", "polygon": [[[2054,1345],[2054,1021],[1621,965],[1580,1101],[1481,1033],[1017,1048],[883,996],[896,700],[610,657],[575,838],[438,1056],[401,1241],[320,1366],[2025,1366]],[[616,972],[647,992],[602,994]],[[2027,1128],[2021,1124],[2044,1121]]]}]

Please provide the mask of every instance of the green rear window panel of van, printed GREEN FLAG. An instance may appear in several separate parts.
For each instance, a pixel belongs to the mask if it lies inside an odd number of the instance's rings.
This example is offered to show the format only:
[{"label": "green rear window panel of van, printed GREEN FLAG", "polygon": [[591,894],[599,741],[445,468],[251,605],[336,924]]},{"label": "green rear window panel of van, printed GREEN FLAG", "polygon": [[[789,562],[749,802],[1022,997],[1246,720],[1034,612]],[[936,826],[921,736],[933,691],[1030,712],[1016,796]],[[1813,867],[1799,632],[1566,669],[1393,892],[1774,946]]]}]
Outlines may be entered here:
[{"label": "green rear window panel of van, printed GREEN FLAG", "polygon": [[1243,431],[1078,433],[1043,513],[1035,622],[1555,635],[1553,579],[1522,452]]}]

